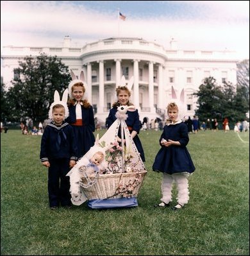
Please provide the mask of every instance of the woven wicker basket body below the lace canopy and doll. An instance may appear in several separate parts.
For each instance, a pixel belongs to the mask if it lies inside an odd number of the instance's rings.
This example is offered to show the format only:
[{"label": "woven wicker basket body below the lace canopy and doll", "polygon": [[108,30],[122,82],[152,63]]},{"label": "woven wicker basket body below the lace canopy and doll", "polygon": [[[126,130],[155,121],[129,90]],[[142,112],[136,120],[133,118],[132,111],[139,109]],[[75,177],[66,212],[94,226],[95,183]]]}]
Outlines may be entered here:
[{"label": "woven wicker basket body below the lace canopy and doll", "polygon": [[108,199],[137,196],[140,186],[144,180],[147,171],[137,173],[115,173],[99,175],[97,182],[91,187],[83,187],[79,182],[81,189],[85,192],[88,200]]}]

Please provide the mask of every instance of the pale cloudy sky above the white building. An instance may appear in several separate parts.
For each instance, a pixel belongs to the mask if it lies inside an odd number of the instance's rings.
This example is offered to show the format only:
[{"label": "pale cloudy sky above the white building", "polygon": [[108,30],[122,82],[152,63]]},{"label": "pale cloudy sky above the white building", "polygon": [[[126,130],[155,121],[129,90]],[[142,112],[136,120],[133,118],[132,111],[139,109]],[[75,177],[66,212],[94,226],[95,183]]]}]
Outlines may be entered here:
[{"label": "pale cloudy sky above the white building", "polygon": [[[119,19],[118,13],[126,16]],[[249,1],[1,1],[3,46],[82,47],[137,37],[169,49],[235,51],[249,59]]]}]

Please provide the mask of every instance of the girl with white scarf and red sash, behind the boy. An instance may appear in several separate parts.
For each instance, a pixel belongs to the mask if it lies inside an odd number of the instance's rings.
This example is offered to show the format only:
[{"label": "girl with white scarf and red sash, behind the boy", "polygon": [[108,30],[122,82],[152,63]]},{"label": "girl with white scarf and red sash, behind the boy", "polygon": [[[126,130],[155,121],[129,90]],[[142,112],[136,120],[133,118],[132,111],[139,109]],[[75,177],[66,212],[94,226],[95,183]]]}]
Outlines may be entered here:
[{"label": "girl with white scarf and red sash, behind the boy", "polygon": [[69,83],[69,117],[65,119],[71,124],[76,137],[78,152],[81,158],[94,145],[95,122],[93,107],[88,103],[83,71],[80,79],[71,71],[72,81]]}]

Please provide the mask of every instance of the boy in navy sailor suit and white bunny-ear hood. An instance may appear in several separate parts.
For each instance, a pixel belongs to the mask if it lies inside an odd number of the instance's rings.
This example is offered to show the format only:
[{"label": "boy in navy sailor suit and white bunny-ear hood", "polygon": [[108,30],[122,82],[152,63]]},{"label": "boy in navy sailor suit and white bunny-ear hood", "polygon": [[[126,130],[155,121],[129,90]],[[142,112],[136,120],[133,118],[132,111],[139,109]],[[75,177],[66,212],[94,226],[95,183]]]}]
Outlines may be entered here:
[{"label": "boy in navy sailor suit and white bunny-ear hood", "polygon": [[48,167],[48,192],[51,210],[71,207],[70,183],[67,173],[76,164],[76,139],[72,127],[64,121],[69,115],[68,90],[63,92],[62,101],[58,91],[49,109],[51,123],[44,129],[41,140],[40,160]]}]

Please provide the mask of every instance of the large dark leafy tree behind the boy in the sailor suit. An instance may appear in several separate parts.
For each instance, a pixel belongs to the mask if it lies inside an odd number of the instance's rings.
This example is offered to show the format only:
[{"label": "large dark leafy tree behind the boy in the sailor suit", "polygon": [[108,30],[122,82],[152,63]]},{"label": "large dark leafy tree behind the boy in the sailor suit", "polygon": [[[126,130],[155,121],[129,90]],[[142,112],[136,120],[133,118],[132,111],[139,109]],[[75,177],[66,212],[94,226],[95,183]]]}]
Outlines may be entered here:
[{"label": "large dark leafy tree behind the boy in the sailor suit", "polygon": [[31,117],[33,121],[47,119],[53,102],[54,90],[62,94],[71,81],[68,67],[56,56],[26,56],[15,69],[13,87],[6,92],[10,109],[8,120],[20,121]]}]

